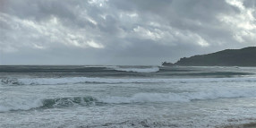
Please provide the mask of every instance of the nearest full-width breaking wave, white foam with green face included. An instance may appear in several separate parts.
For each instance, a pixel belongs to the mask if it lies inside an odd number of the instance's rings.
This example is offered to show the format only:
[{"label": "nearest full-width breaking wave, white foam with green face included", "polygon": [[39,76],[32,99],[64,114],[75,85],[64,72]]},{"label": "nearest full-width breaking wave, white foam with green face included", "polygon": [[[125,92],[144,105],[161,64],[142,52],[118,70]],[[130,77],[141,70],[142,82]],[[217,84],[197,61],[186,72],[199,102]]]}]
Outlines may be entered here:
[{"label": "nearest full-width breaking wave, white foam with green face included", "polygon": [[74,97],[74,98],[38,98],[21,99],[13,98],[9,101],[0,101],[0,112],[12,110],[30,110],[34,108],[60,108],[76,106],[98,106],[107,104],[132,104],[132,103],[159,103],[159,102],[191,102],[193,100],[206,100],[218,98],[252,98],[256,97],[255,90],[207,90],[199,92],[182,93],[137,93],[130,97],[105,96]]}]

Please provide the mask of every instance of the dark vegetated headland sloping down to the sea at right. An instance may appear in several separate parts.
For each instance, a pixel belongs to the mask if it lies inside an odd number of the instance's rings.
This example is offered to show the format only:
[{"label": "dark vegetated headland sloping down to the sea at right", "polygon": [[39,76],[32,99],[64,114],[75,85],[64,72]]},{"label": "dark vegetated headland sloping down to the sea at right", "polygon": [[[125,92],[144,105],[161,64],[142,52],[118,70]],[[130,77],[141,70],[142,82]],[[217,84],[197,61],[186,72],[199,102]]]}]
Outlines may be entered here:
[{"label": "dark vegetated headland sloping down to the sea at right", "polygon": [[183,57],[175,64],[163,62],[164,66],[256,66],[256,47],[226,49],[208,55]]}]

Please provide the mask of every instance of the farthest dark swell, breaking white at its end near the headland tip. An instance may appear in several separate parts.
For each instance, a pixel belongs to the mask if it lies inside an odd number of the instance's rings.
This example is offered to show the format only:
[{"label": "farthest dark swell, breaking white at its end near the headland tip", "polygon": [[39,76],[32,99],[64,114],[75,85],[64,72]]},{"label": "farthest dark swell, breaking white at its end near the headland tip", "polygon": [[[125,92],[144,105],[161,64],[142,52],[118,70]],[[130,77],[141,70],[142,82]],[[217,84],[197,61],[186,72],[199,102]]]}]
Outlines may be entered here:
[{"label": "farthest dark swell, breaking white at its end near the headland tip", "polygon": [[158,66],[47,66],[20,65],[0,66],[0,73],[109,73],[109,72],[158,72]]}]

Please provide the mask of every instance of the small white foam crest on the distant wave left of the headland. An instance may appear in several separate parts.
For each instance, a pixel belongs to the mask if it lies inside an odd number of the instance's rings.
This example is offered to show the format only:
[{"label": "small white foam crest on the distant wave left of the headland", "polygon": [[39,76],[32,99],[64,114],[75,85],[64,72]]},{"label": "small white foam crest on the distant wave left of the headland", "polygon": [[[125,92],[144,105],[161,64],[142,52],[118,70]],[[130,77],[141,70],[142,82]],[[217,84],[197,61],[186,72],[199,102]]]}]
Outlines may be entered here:
[{"label": "small white foam crest on the distant wave left of the headland", "polygon": [[154,66],[154,67],[146,67],[146,68],[142,68],[142,67],[120,67],[120,66],[113,66],[111,67],[116,71],[124,71],[124,72],[135,72],[135,73],[156,73],[159,71],[158,66]]}]

